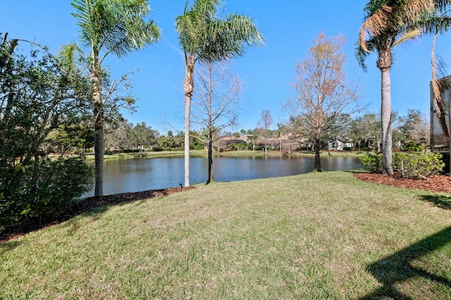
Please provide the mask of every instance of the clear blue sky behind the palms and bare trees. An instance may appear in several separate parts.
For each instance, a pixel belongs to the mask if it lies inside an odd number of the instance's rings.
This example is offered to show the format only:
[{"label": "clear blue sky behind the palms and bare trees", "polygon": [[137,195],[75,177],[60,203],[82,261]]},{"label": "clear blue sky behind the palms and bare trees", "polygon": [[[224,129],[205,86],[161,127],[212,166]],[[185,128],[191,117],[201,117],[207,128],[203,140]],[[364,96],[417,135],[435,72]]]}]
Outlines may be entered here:
[{"label": "clear blue sky behind the palms and bare trees", "polygon": [[[267,109],[276,123],[288,119],[283,111],[292,89],[295,66],[304,59],[313,39],[320,31],[327,36],[345,35],[347,44],[345,70],[354,82],[362,80],[364,99],[370,112],[380,111],[381,75],[376,68],[376,55],[367,59],[368,72],[359,67],[354,48],[359,27],[364,18],[367,0],[228,0],[225,13],[237,12],[252,17],[266,37],[261,49],[248,49],[237,58],[233,72],[244,78],[242,97],[245,103],[236,130],[253,129]],[[123,115],[132,123],[144,121],[166,135],[171,126],[183,130],[183,77],[184,61],[174,19],[183,13],[185,0],[149,0],[150,17],[162,31],[159,43],[118,59],[110,56],[106,61],[113,77],[128,71],[132,77],[132,95],[137,99],[137,112]],[[61,45],[75,42],[78,27],[70,14],[70,0],[1,0],[0,32],[9,37],[29,39],[58,51]],[[431,80],[431,37],[407,42],[395,50],[392,67],[393,110],[405,114],[408,108],[419,109],[428,116],[429,82]],[[450,38],[438,39],[438,54],[450,61]],[[139,71],[137,71],[139,70]],[[137,72],[136,72],[137,71]]]}]

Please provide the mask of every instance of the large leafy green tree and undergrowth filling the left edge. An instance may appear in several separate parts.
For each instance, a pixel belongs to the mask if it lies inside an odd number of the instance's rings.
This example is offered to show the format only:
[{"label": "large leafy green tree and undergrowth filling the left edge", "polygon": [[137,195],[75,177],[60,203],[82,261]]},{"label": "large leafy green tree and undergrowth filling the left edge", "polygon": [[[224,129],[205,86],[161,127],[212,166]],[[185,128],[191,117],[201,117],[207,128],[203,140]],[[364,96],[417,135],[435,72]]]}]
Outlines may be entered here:
[{"label": "large leafy green tree and undergrowth filling the left edge", "polygon": [[47,146],[60,125],[79,125],[88,79],[45,48],[16,54],[17,44],[0,44],[0,232],[56,215],[92,180],[84,157],[50,159]]}]

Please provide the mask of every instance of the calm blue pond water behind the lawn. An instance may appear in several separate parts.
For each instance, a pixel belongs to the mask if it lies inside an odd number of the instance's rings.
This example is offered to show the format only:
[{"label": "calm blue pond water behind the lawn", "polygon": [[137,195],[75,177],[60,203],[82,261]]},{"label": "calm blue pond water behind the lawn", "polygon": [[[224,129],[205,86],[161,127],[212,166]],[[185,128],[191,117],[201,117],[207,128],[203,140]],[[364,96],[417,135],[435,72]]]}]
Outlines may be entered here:
[{"label": "calm blue pond water behind the lawn", "polygon": [[[332,156],[321,158],[324,170],[353,170],[362,168],[357,157]],[[215,157],[215,181],[252,180],[309,173],[313,170],[311,157]],[[205,182],[206,157],[190,158],[190,183]],[[104,194],[140,192],[147,189],[178,187],[184,183],[183,156],[163,158],[135,158],[105,161]],[[94,189],[85,196],[93,196]]]}]

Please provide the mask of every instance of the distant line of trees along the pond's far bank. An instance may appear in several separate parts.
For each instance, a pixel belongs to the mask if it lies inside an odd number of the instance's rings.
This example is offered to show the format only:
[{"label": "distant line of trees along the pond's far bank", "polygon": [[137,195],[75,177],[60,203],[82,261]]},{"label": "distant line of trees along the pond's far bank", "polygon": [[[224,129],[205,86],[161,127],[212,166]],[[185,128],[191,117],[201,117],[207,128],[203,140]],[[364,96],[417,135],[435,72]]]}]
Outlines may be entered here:
[{"label": "distant line of trees along the pond's far bank", "polygon": [[[297,132],[295,123],[278,123],[276,129],[271,129],[272,120],[270,111],[262,112],[262,119],[257,127],[248,130],[230,131],[216,130],[211,139],[212,147],[217,151],[233,150],[261,150],[268,149],[276,151],[307,150],[313,149],[314,144]],[[393,144],[397,151],[422,151],[429,143],[430,125],[426,116],[417,109],[408,109],[405,115],[396,111],[392,113],[393,118]],[[330,150],[330,142],[346,142],[344,150],[380,151],[381,150],[381,116],[379,113],[363,113],[354,117],[348,116],[342,120],[340,126],[328,135],[321,136],[321,150]],[[264,125],[266,124],[266,125]],[[58,131],[59,132],[59,131]],[[59,133],[58,133],[59,134]],[[239,140],[246,136],[247,140]],[[106,124],[105,147],[107,152],[121,151],[180,151],[185,148],[184,132],[169,130],[166,135],[158,130],[152,129],[145,122],[128,123],[121,120],[115,125]],[[225,142],[224,137],[235,137],[230,143]],[[280,140],[281,139],[281,140]],[[422,144],[421,139],[425,139]],[[72,151],[90,151],[86,148],[93,146],[93,137],[78,146],[73,146]],[[63,144],[63,141],[55,141],[54,144]],[[238,144],[243,144],[238,146]],[[308,146],[308,145],[311,146]],[[190,149],[208,149],[209,130],[204,127],[201,130],[190,131]],[[92,149],[91,149],[92,150]]]}]

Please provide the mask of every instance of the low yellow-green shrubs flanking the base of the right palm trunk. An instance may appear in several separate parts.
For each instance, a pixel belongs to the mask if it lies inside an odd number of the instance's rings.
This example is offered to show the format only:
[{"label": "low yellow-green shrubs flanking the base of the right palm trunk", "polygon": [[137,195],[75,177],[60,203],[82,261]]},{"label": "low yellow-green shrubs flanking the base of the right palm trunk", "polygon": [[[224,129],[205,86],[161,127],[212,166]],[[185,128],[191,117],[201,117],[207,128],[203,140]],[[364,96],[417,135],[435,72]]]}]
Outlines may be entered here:
[{"label": "low yellow-green shrubs flanking the base of the right palm trunk", "polygon": [[[439,173],[445,163],[441,154],[394,154],[393,170],[407,178],[428,177]],[[360,160],[364,168],[372,173],[382,173],[382,154],[367,154]]]}]

